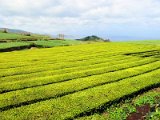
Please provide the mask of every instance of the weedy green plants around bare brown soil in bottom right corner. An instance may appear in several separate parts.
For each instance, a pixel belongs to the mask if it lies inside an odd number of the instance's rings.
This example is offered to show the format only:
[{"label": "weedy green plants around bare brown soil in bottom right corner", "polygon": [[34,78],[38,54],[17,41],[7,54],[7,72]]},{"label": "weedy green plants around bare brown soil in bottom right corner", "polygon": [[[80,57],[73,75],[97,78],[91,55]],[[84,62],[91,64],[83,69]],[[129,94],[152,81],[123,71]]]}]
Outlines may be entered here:
[{"label": "weedy green plants around bare brown soil in bottom right corner", "polygon": [[[144,94],[133,97],[132,99],[126,99],[121,103],[114,104],[107,108],[103,113],[94,114],[91,116],[81,117],[77,120],[126,120],[126,117],[132,112],[136,112],[136,106],[143,106],[150,104],[154,106],[160,102],[160,88],[152,89]],[[160,108],[154,108],[147,116],[146,120],[159,120]]]}]

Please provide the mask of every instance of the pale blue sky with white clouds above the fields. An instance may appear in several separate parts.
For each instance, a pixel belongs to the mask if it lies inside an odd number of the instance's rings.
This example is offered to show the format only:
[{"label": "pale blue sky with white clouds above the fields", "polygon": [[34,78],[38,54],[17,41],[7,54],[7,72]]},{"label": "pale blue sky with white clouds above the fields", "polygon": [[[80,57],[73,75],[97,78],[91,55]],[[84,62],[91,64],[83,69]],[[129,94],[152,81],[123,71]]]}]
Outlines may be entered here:
[{"label": "pale blue sky with white clouds above the fields", "polygon": [[0,27],[74,37],[160,39],[160,0],[0,0]]}]

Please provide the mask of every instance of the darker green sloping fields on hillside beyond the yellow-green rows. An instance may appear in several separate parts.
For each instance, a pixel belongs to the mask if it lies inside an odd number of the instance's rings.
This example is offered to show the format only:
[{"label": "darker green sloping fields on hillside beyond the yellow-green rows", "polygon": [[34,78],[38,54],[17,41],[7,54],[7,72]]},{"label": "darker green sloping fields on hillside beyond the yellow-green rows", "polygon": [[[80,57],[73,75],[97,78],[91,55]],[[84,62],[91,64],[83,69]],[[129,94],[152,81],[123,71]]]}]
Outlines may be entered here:
[{"label": "darker green sloping fields on hillside beyond the yellow-green rows", "polygon": [[25,36],[16,33],[3,33],[0,31],[0,52],[9,52],[15,50],[23,50],[34,48],[51,48],[57,46],[78,45],[82,41],[77,40],[57,40],[47,35],[31,34]]}]

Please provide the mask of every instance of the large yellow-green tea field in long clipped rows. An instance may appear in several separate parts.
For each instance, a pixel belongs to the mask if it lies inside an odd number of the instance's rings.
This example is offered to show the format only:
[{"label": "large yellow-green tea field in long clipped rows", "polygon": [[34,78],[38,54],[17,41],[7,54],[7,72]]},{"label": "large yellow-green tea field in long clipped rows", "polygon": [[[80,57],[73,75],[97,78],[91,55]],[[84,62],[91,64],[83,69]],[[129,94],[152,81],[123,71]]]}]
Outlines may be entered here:
[{"label": "large yellow-green tea field in long clipped rows", "polygon": [[79,119],[160,86],[159,46],[95,43],[0,53],[0,119]]}]

